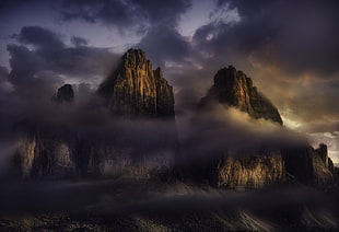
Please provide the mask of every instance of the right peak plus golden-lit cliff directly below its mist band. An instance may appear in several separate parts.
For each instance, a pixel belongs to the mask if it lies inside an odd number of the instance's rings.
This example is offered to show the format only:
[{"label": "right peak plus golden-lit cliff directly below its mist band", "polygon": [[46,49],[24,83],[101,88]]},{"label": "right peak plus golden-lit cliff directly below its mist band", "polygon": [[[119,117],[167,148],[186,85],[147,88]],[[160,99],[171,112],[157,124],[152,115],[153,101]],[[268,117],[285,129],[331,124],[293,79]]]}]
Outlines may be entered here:
[{"label": "right peak plus golden-lit cliff directly below its mist band", "polygon": [[[201,98],[199,109],[209,111],[209,106],[215,103],[236,107],[255,119],[264,118],[282,125],[278,109],[253,86],[250,78],[232,66],[217,72],[214,84]],[[283,155],[279,148],[268,147],[225,148],[214,151],[218,155],[202,154],[208,159],[212,156],[214,161],[210,162],[209,169],[200,169],[199,165],[194,169],[209,173],[206,176],[209,176],[210,183],[219,187],[246,189],[282,183],[285,179]],[[194,159],[194,155],[188,156]]]}]

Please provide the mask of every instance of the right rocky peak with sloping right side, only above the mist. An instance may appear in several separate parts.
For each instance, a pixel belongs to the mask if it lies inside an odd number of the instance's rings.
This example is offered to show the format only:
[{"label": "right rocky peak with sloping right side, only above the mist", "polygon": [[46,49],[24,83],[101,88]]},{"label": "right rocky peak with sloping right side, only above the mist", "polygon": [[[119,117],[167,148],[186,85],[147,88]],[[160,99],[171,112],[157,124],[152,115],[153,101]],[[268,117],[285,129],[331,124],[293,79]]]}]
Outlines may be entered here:
[{"label": "right rocky peak with sloping right side, only above the mist", "polygon": [[282,125],[282,119],[273,104],[257,91],[252,79],[233,66],[220,69],[214,76],[214,84],[200,105],[218,101],[246,112],[253,118],[265,118]]}]

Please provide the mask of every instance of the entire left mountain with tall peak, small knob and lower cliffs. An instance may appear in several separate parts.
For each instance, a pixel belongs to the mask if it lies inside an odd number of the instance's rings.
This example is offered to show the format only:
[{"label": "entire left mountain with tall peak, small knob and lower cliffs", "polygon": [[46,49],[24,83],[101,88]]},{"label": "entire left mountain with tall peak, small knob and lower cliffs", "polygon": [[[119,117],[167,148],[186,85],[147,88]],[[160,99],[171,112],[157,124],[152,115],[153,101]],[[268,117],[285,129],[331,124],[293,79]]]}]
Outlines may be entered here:
[{"label": "entire left mountain with tall peak, small knob and lower cliffs", "polygon": [[[130,49],[113,73],[97,90],[112,113],[110,127],[92,131],[74,129],[71,121],[17,124],[20,142],[14,160],[20,175],[150,178],[173,169],[174,96],[161,69],[152,70],[142,50]],[[58,112],[75,107],[73,102],[73,89],[65,84],[51,104]]]}]

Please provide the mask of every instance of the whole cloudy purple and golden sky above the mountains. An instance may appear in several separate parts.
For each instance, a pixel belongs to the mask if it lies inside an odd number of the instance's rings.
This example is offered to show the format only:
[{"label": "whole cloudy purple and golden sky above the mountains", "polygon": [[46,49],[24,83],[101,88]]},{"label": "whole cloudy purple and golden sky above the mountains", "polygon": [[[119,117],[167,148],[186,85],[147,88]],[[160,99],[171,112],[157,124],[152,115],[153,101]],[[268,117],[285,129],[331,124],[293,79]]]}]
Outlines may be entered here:
[{"label": "whole cloudy purple and golden sky above the mountains", "polygon": [[94,91],[133,47],[163,69],[178,114],[233,65],[285,127],[339,163],[338,10],[336,0],[2,0],[0,136],[63,83]]}]

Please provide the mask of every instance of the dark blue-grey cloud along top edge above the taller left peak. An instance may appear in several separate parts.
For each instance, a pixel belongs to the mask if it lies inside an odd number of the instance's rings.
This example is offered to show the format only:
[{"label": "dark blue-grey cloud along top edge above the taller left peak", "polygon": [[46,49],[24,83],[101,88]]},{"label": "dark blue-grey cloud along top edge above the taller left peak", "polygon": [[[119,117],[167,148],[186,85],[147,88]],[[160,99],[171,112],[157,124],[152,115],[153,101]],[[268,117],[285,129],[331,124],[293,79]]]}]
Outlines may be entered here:
[{"label": "dark blue-grey cloud along top edge above the taller left peak", "polygon": [[180,14],[190,7],[188,0],[160,2],[156,0],[63,1],[63,19],[81,19],[116,26],[120,32],[140,30],[150,25],[177,24]]}]

